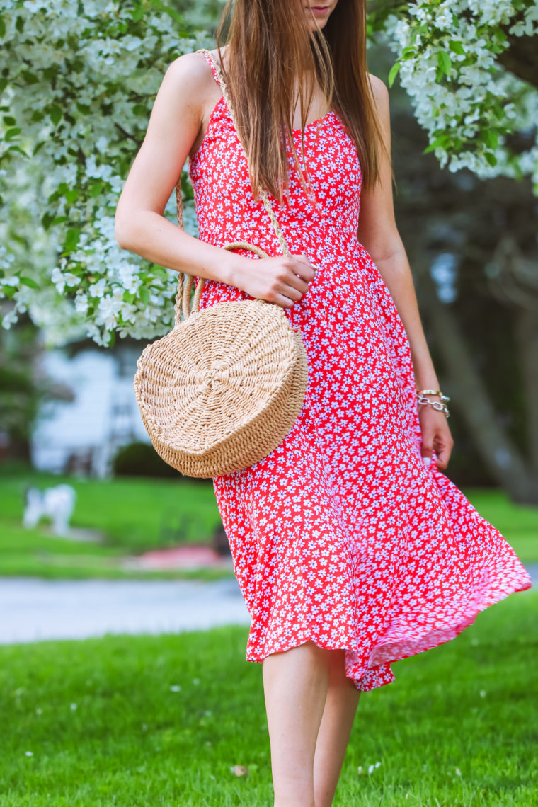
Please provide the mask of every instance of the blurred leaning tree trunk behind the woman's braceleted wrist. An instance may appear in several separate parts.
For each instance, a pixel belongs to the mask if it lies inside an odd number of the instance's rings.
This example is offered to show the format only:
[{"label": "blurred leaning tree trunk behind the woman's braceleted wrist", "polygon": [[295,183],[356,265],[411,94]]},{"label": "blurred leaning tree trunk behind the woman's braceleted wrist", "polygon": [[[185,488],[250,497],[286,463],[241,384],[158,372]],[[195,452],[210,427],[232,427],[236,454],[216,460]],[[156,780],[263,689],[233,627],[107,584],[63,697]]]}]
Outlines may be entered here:
[{"label": "blurred leaning tree trunk behind the woman's braceleted wrist", "polygon": [[[453,392],[453,402],[461,412],[478,451],[494,478],[511,498],[524,504],[538,504],[538,473],[526,462],[498,423],[486,387],[479,377],[465,338],[450,308],[440,303],[427,273],[420,278],[425,291],[427,320],[435,333],[436,346],[443,357]],[[424,288],[426,286],[426,288]]]}]

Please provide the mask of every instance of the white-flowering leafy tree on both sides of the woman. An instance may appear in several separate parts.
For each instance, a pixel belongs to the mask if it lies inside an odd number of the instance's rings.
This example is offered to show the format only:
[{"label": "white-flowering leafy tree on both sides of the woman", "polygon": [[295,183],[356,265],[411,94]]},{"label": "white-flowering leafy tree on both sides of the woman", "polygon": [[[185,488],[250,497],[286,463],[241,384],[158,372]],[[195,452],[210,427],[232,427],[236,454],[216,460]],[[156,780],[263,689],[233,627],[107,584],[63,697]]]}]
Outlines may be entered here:
[{"label": "white-flowering leafy tree on both sides of the woman", "polygon": [[[390,82],[399,73],[442,165],[531,174],[538,190],[538,94],[521,80],[535,0],[381,0],[369,27],[394,48]],[[519,78],[513,42],[527,54]],[[4,327],[28,312],[49,341],[102,345],[171,327],[177,274],[121,251],[114,214],[165,69],[202,44],[162,0],[0,0]],[[195,232],[186,174],[181,187]]]}]

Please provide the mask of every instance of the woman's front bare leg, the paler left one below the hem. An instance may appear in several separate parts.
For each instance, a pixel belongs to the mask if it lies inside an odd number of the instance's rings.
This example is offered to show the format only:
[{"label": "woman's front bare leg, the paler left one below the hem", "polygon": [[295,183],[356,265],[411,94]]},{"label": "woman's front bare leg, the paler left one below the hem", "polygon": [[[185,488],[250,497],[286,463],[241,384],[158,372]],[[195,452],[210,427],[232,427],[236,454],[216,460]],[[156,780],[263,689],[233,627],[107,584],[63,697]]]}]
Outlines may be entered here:
[{"label": "woman's front bare leg, the paler left one below the hem", "polygon": [[334,652],[307,642],[264,659],[275,807],[314,807],[315,741]]}]

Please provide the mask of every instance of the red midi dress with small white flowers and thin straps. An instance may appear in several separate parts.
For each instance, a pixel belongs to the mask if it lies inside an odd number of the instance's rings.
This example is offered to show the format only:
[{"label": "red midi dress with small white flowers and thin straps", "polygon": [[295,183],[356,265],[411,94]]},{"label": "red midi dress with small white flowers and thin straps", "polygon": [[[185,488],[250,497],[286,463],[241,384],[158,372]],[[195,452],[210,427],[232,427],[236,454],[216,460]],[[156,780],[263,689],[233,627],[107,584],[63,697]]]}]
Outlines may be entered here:
[{"label": "red midi dress with small white flowers and thin straps", "polygon": [[[435,455],[423,465],[410,347],[357,240],[361,166],[335,112],[307,126],[304,148],[316,199],[290,157],[290,207],[271,202],[291,252],[319,267],[286,311],[307,349],[307,395],[281,445],[214,486],[252,617],[247,658],[304,642],[344,649],[346,674],[368,690],[394,680],[391,662],[531,583]],[[190,177],[202,240],[280,253],[223,98]],[[201,306],[247,296],[207,281]]]}]

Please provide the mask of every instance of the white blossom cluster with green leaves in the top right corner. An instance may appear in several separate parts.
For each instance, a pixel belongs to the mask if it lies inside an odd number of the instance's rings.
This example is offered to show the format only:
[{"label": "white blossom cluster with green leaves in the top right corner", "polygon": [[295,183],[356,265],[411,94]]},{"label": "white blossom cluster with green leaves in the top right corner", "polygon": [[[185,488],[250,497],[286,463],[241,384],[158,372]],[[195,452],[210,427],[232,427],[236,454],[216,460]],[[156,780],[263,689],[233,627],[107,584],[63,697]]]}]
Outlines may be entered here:
[{"label": "white blossom cluster with green leaves in the top right corner", "polygon": [[538,35],[538,5],[415,2],[402,19],[388,19],[386,36],[440,164],[451,171],[469,168],[483,178],[530,174],[538,194],[538,140],[514,154],[505,134],[506,129],[528,131],[538,138],[538,92],[498,65],[498,53],[508,47],[501,26],[514,36]]}]

